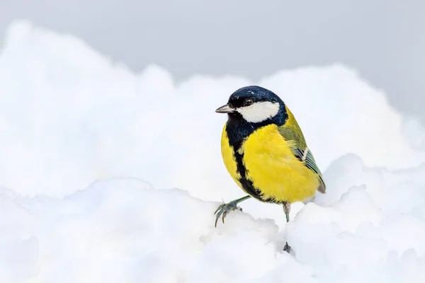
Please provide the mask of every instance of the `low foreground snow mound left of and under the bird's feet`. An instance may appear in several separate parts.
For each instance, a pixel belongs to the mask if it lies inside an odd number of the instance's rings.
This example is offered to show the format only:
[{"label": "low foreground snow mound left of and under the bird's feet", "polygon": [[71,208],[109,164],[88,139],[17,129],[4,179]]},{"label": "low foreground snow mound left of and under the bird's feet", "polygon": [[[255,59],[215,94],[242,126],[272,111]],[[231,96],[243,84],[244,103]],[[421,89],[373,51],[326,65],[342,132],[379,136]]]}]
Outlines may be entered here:
[{"label": "low foreground snow mound left of and under the bird's feet", "polygon": [[0,238],[0,248],[7,245],[2,282],[223,282],[261,277],[283,263],[289,273],[302,270],[285,253],[276,260],[273,221],[234,212],[215,229],[217,203],[182,190],[118,178],[64,200],[0,196],[0,207],[16,212],[13,222],[0,222],[8,231]]}]

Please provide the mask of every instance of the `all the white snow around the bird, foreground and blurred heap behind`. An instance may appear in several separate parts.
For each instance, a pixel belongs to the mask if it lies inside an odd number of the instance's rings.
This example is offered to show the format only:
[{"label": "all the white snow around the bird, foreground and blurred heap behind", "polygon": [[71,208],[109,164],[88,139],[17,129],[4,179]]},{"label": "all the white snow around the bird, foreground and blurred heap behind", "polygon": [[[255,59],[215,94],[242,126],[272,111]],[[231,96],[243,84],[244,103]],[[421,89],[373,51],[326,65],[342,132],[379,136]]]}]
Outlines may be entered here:
[{"label": "all the white snow around the bird, foreground and blurred heap behind", "polygon": [[[0,282],[424,282],[425,130],[353,69],[178,82],[28,21],[5,42]],[[214,110],[248,84],[288,104],[327,194],[289,224],[246,200],[215,228],[244,194]]]}]

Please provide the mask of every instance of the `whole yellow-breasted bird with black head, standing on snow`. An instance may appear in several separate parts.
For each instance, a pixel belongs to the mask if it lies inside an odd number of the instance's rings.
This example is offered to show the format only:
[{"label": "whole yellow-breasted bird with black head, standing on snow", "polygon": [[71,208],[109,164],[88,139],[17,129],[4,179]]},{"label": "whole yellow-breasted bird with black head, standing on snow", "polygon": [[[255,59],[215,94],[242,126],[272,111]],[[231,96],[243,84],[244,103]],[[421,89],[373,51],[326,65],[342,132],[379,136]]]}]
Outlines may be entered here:
[{"label": "whole yellow-breasted bird with black head, standing on snow", "polygon": [[[215,227],[229,212],[242,210],[237,204],[253,197],[260,202],[281,204],[289,222],[290,205],[310,202],[326,185],[312,151],[295,116],[273,91],[244,86],[217,108],[226,113],[221,154],[227,172],[247,194],[220,204],[214,214]],[[290,253],[288,242],[284,250]]]}]

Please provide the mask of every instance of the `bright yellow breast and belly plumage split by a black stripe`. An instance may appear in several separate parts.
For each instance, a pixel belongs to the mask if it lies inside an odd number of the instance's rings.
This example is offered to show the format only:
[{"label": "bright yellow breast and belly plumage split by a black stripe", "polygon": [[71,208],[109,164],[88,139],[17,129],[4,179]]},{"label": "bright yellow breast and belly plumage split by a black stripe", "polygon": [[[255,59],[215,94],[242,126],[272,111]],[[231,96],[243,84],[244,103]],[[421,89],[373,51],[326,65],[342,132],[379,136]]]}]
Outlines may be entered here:
[{"label": "bright yellow breast and belly plumage split by a black stripe", "polygon": [[[239,149],[239,153],[243,154],[246,178],[262,193],[263,200],[297,202],[314,196],[319,186],[317,175],[293,155],[290,146],[293,144],[285,141],[276,125],[267,125],[249,135]],[[227,171],[242,187],[225,129],[222,156]]]}]

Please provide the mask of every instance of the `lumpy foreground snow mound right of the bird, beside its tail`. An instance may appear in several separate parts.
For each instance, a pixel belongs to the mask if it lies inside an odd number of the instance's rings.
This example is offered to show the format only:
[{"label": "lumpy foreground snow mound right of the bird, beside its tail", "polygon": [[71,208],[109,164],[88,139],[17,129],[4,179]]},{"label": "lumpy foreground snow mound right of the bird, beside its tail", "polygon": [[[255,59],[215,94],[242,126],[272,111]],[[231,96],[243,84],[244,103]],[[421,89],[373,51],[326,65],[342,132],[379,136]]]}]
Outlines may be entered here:
[{"label": "lumpy foreground snow mound right of the bird, beside its tail", "polygon": [[424,280],[425,166],[388,171],[347,155],[327,175],[329,193],[286,228],[297,260],[326,282]]}]

